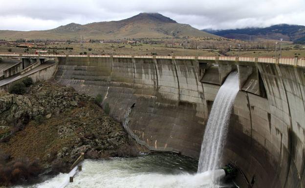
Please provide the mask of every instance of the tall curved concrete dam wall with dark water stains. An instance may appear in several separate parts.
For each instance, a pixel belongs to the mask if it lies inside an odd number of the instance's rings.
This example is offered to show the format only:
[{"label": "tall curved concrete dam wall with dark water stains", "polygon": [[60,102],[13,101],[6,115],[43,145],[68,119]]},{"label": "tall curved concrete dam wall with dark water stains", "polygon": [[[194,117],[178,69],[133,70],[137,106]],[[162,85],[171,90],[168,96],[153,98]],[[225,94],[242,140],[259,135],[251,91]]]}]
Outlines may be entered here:
[{"label": "tall curved concrete dam wall with dark water stains", "polygon": [[305,68],[279,62],[170,58],[59,57],[56,80],[109,103],[150,146],[198,158],[220,85],[239,71],[223,164],[241,188],[305,188]]}]

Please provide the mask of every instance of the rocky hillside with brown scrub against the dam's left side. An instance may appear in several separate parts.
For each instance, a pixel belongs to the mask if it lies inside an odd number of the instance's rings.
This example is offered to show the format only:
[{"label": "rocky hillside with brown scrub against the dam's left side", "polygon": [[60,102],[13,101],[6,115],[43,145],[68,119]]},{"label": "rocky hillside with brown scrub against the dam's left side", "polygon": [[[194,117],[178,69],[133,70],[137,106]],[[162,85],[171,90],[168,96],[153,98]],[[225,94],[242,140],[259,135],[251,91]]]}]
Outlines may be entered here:
[{"label": "rocky hillside with brown scrub against the dam's left side", "polygon": [[0,125],[0,148],[11,159],[39,159],[44,168],[69,167],[81,152],[87,158],[137,154],[120,123],[91,97],[50,82],[24,95],[0,95]]}]

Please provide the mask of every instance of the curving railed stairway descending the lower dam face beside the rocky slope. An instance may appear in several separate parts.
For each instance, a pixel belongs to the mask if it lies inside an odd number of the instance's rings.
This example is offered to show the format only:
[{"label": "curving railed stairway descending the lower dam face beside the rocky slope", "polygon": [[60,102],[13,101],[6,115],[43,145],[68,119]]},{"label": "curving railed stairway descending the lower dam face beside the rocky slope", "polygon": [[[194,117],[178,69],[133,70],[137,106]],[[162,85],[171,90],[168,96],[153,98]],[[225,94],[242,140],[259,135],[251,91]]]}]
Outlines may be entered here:
[{"label": "curving railed stairway descending the lower dam face beside the rocky slope", "polygon": [[139,144],[142,146],[146,146],[149,150],[151,151],[162,151],[162,152],[173,152],[173,153],[180,153],[178,149],[174,149],[171,147],[153,147],[149,146],[146,142],[141,140],[137,135],[135,135],[132,130],[129,128],[128,123],[129,123],[129,114],[131,113],[131,108],[128,108],[125,116],[124,116],[124,121],[123,121],[123,127],[125,130],[128,132],[128,134]]}]

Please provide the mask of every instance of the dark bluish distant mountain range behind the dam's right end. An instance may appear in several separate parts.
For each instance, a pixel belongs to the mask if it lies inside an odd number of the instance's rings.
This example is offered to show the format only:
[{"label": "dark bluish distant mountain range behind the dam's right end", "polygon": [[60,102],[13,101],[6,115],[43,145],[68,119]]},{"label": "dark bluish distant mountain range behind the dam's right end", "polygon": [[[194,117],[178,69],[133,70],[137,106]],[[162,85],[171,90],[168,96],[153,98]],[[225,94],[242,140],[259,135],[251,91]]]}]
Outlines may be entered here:
[{"label": "dark bluish distant mountain range behind the dam's right end", "polygon": [[[228,30],[203,30],[214,35],[229,39],[240,40],[260,40],[271,39],[284,41],[305,41],[305,26],[303,25],[289,25],[278,24],[265,28],[244,28],[244,29],[228,29]],[[303,40],[302,40],[303,38]]]}]

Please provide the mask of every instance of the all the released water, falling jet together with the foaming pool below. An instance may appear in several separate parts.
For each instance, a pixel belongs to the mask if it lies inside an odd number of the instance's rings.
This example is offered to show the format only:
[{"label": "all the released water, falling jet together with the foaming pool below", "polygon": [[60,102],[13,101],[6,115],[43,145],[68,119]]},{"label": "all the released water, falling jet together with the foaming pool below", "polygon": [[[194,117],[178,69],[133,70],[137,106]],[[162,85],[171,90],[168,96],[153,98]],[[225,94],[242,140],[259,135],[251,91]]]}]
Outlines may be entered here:
[{"label": "all the released water, falling jet together with the foaming pool below", "polygon": [[[85,160],[83,170],[60,173],[42,183],[15,188],[218,188],[225,176],[220,160],[234,99],[239,91],[238,73],[221,85],[206,126],[198,169],[196,161],[178,155],[151,154],[136,158]],[[192,169],[188,169],[193,166]],[[74,182],[69,177],[75,175]],[[226,186],[230,187],[230,186]]]}]

